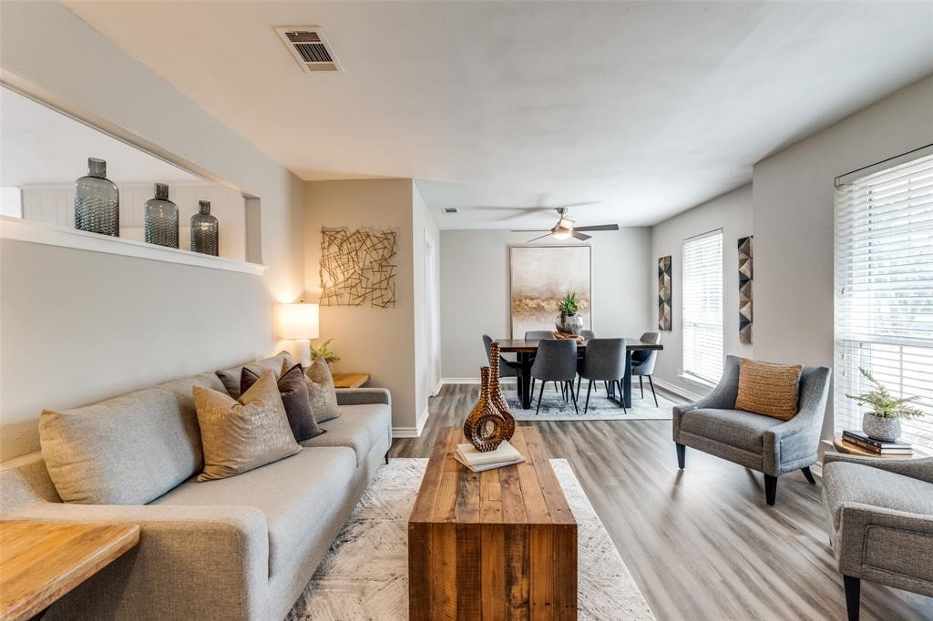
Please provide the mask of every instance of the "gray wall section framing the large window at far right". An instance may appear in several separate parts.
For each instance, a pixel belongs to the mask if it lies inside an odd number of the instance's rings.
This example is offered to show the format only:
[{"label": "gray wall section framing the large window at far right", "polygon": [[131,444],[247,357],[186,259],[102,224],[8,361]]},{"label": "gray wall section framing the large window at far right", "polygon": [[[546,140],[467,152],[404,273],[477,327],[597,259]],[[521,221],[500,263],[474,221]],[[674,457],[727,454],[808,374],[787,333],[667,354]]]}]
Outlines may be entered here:
[{"label": "gray wall section framing the large window at far right", "polygon": [[933,76],[755,165],[760,359],[832,366],[833,179],[931,143]]}]

